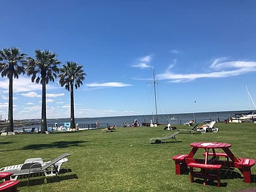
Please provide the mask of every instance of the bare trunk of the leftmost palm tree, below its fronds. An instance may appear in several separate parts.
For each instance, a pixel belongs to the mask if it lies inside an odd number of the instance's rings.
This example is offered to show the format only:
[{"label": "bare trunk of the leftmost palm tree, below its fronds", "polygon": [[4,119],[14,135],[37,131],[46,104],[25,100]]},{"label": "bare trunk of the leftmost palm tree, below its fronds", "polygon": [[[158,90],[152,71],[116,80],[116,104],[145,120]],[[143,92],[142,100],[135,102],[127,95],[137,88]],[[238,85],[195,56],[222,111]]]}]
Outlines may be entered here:
[{"label": "bare trunk of the leftmost palm tree, below its fronds", "polygon": [[13,101],[12,101],[12,72],[9,76],[9,109],[8,109],[8,123],[7,132],[13,132]]}]

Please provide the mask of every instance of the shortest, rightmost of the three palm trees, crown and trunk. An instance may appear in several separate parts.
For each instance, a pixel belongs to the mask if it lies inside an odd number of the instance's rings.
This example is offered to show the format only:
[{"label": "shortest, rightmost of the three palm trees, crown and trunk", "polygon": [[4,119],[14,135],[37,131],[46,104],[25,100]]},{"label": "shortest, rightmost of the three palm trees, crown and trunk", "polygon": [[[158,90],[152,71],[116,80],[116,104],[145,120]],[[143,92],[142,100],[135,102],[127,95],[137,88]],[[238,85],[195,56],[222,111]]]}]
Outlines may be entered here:
[{"label": "shortest, rightmost of the three palm trees, crown and trunk", "polygon": [[79,88],[80,85],[83,85],[84,76],[86,75],[82,67],[83,66],[78,65],[76,62],[67,61],[67,65],[63,65],[63,67],[59,69],[59,84],[61,87],[65,86],[67,91],[70,91],[70,128],[75,128],[74,85],[76,89]]}]

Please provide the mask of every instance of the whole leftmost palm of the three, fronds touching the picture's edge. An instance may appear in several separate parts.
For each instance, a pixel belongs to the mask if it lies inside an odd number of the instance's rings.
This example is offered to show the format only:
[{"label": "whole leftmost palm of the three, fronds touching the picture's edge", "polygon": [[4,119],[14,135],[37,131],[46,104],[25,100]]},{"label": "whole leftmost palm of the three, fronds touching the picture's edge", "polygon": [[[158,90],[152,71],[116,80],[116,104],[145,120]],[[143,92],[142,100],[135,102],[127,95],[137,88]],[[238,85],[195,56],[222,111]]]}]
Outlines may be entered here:
[{"label": "whole leftmost palm of the three, fronds touching the picture's edge", "polygon": [[13,131],[13,101],[12,101],[12,77],[18,79],[18,75],[25,73],[23,65],[26,60],[26,53],[20,53],[17,47],[6,48],[0,50],[0,72],[1,77],[9,79],[9,109],[7,132]]}]

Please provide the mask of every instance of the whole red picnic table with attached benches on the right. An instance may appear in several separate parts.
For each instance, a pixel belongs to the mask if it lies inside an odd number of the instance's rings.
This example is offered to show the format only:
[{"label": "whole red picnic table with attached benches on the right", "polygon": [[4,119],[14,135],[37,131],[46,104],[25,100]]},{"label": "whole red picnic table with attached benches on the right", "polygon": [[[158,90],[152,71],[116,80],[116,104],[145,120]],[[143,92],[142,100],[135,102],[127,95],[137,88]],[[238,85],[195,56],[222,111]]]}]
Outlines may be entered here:
[{"label": "whole red picnic table with attached benches on the right", "polygon": [[[190,173],[193,173],[193,167],[204,169],[217,169],[218,172],[222,166],[238,168],[244,175],[244,183],[251,183],[251,167],[255,165],[255,160],[252,158],[236,158],[236,156],[230,151],[231,145],[229,143],[222,142],[194,142],[190,146],[192,150],[189,155],[175,155],[173,160],[176,161],[176,174],[183,174],[187,171],[187,166],[190,166]],[[206,152],[203,153],[204,159],[194,158],[195,153],[198,149],[203,148]],[[222,149],[225,153],[217,153],[215,149]],[[212,150],[212,153],[210,153]],[[219,160],[219,157],[223,156],[227,158],[225,161]],[[192,171],[192,172],[191,172]],[[206,174],[194,174],[195,177],[200,176],[208,177]],[[216,177],[209,178],[218,180],[219,185],[219,175]],[[192,179],[192,178],[191,178]]]}]

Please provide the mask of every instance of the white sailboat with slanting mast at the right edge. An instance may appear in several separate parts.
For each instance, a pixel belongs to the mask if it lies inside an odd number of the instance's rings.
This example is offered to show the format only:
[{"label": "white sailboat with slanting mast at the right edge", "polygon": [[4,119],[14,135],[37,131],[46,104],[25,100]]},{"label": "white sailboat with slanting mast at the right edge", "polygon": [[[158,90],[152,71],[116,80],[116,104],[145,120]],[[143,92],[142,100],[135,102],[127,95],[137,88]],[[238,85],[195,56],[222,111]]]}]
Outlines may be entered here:
[{"label": "white sailboat with slanting mast at the right edge", "polygon": [[[248,101],[249,101],[249,107],[250,107],[250,112],[244,113],[244,114],[236,114],[235,118],[230,118],[229,122],[230,123],[242,123],[242,122],[254,122],[256,120],[256,114],[252,113],[252,104],[255,106],[255,101],[253,101],[251,94],[248,91],[247,85],[245,85],[246,91],[247,91],[247,96],[248,96]],[[252,104],[251,104],[252,101]]]}]

